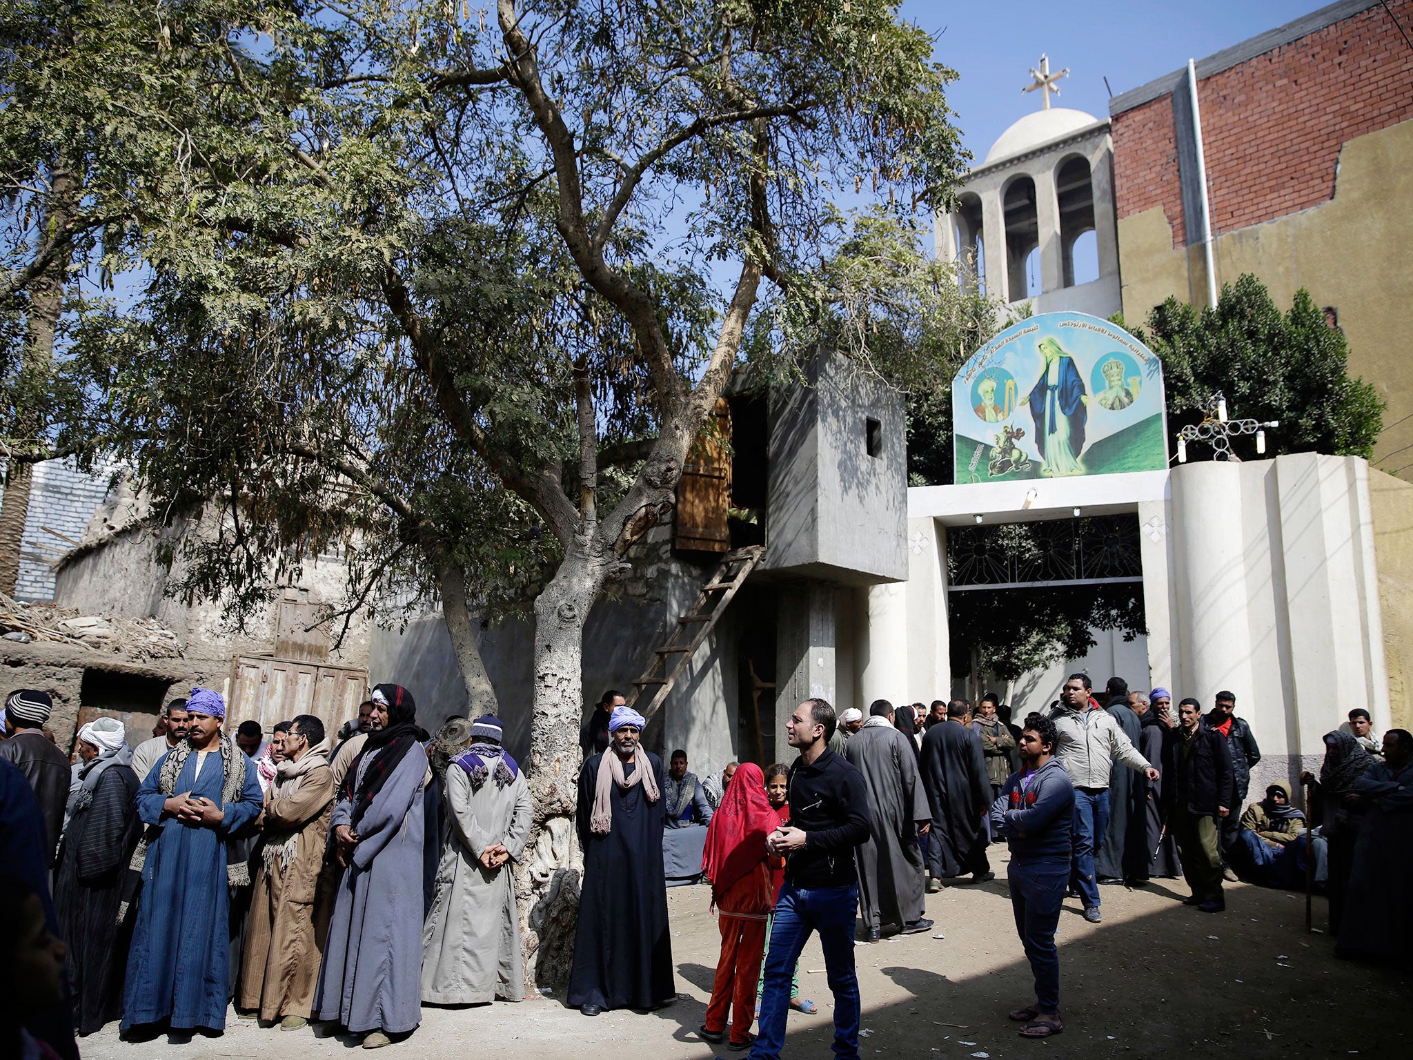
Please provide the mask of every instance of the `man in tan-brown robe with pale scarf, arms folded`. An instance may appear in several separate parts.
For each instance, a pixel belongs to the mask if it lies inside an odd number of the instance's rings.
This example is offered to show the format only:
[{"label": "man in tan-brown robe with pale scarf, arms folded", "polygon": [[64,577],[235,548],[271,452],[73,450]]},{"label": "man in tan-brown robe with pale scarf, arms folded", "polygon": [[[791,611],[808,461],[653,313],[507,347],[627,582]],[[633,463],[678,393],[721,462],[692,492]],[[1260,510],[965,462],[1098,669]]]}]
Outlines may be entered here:
[{"label": "man in tan-brown robe with pale scarf, arms folded", "polygon": [[260,817],[261,851],[240,967],[240,1008],[281,1030],[307,1026],[319,978],[328,917],[315,916],[333,776],[324,724],[311,714],[285,735]]}]

